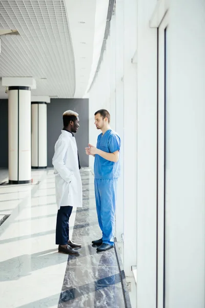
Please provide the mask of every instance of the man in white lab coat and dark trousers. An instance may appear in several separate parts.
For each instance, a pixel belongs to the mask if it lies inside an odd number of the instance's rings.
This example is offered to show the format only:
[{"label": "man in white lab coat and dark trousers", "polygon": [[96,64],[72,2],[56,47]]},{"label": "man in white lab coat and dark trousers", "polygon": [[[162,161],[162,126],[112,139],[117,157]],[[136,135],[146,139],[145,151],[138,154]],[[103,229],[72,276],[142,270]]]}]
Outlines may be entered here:
[{"label": "man in white lab coat and dark trousers", "polygon": [[55,175],[56,244],[58,252],[79,255],[75,248],[81,248],[69,238],[69,218],[74,207],[83,206],[83,192],[80,177],[80,163],[74,137],[79,127],[78,113],[68,110],[63,114],[64,128],[55,144],[53,166]]}]

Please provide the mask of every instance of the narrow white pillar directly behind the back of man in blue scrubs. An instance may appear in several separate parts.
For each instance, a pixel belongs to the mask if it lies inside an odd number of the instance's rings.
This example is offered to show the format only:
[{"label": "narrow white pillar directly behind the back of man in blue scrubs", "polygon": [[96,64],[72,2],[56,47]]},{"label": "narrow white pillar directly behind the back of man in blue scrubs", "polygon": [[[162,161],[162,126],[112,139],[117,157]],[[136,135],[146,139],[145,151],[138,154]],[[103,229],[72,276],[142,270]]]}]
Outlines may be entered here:
[{"label": "narrow white pillar directly behind the back of man in blue scrubs", "polygon": [[116,239],[124,235],[124,3],[116,0],[116,131],[121,138],[121,176],[117,186]]}]

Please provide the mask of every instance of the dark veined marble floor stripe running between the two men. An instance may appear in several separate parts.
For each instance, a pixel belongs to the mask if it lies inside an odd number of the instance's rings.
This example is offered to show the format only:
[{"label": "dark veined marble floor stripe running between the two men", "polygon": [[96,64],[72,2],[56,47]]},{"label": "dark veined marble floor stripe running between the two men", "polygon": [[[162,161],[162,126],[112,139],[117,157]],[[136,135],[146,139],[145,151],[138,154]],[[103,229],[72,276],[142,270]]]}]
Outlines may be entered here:
[{"label": "dark veined marble floor stripe running between the two men", "polygon": [[[87,177],[86,185],[94,188],[91,172],[84,170],[83,175]],[[58,308],[129,307],[125,303],[123,278],[115,249],[97,253],[96,246],[91,243],[101,237],[93,188],[84,191],[83,208],[76,212],[72,240],[83,246],[78,257],[68,256]]]}]

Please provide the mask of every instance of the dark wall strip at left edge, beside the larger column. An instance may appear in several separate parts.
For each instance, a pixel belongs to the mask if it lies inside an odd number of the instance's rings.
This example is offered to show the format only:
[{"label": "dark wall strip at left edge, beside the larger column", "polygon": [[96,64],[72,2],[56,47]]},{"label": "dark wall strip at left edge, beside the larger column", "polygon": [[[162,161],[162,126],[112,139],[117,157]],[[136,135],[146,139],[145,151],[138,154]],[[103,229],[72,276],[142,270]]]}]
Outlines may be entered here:
[{"label": "dark wall strip at left edge, beside the larger column", "polygon": [[0,168],[8,168],[8,100],[0,100]]}]

